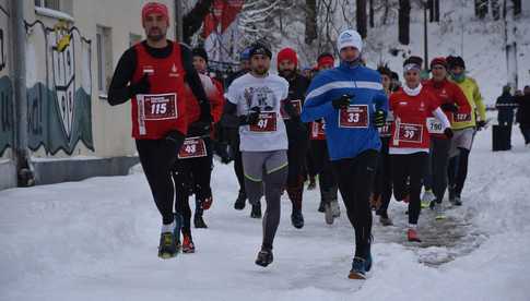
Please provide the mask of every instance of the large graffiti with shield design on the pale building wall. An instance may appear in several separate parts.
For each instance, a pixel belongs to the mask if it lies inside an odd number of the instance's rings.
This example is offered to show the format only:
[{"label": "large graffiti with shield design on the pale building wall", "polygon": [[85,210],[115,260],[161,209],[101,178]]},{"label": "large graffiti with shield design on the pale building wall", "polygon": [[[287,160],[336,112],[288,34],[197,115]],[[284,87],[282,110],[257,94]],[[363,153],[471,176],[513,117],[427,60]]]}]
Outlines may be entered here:
[{"label": "large graffiti with shield design on the pale building wall", "polygon": [[94,150],[91,40],[62,22],[26,23],[26,32],[30,148],[71,155],[81,141]]}]

